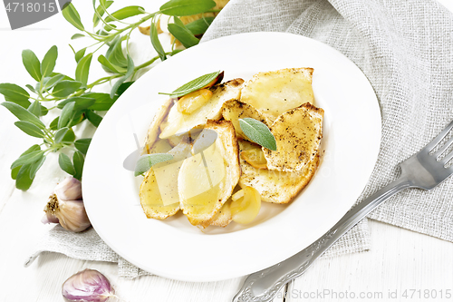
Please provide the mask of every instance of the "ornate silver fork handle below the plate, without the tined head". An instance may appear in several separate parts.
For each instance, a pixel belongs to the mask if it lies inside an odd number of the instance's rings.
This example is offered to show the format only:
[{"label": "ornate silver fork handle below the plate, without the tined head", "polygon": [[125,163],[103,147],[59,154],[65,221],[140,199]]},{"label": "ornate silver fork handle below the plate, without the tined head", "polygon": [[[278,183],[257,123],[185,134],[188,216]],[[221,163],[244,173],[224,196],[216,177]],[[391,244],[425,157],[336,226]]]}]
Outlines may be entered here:
[{"label": "ornate silver fork handle below the plate, without the tined head", "polygon": [[371,210],[376,209],[384,200],[394,194],[410,188],[410,180],[401,175],[398,180],[390,182],[387,186],[372,194],[366,200],[350,209],[332,229],[329,229],[320,239],[304,248],[291,258],[265,268],[248,276],[243,286],[233,298],[233,302],[266,302],[271,301],[286,283],[304,274],[313,261],[323,255],[333,243],[352,229],[361,219],[365,218]]}]

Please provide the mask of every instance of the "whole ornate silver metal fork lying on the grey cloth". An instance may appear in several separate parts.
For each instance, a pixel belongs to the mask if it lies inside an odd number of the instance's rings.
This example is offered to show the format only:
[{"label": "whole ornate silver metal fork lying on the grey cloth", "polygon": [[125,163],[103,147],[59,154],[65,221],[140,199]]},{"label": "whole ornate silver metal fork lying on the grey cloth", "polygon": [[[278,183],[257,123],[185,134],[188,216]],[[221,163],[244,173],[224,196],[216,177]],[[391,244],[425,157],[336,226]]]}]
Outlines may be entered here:
[{"label": "whole ornate silver metal fork lying on the grey cloth", "polygon": [[323,255],[333,243],[352,229],[371,210],[376,209],[384,200],[408,188],[431,190],[448,176],[453,174],[453,165],[446,168],[448,161],[453,159],[453,151],[444,158],[439,157],[448,150],[453,143],[453,137],[442,145],[439,150],[432,152],[453,128],[453,122],[430,141],[422,150],[400,163],[400,178],[390,182],[387,186],[372,194],[349,210],[332,229],[320,239],[298,252],[291,258],[276,264],[273,267],[260,270],[246,278],[244,285],[233,298],[234,302],[265,302],[272,300],[286,283],[304,274],[313,261]]}]

